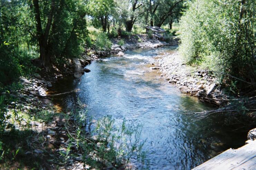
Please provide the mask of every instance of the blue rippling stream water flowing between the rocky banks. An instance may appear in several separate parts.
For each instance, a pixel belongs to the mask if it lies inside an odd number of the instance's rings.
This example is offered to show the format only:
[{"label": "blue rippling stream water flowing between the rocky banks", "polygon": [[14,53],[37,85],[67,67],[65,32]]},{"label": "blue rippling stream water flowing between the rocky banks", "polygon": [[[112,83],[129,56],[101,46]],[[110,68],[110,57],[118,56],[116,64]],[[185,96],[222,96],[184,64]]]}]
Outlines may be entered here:
[{"label": "blue rippling stream water flowing between the rocky banks", "polygon": [[[149,150],[150,169],[191,169],[220,152],[244,145],[246,134],[233,131],[221,116],[209,116],[196,121],[187,111],[211,109],[212,106],[195,97],[181,94],[151,70],[157,57],[173,53],[176,47],[136,49],[124,56],[108,56],[93,61],[91,72],[81,81],[72,81],[80,88],[75,97],[90,107],[93,117],[112,115],[116,124],[143,124],[144,149]],[[63,84],[62,84],[63,86]],[[66,107],[74,103],[65,98]]]}]

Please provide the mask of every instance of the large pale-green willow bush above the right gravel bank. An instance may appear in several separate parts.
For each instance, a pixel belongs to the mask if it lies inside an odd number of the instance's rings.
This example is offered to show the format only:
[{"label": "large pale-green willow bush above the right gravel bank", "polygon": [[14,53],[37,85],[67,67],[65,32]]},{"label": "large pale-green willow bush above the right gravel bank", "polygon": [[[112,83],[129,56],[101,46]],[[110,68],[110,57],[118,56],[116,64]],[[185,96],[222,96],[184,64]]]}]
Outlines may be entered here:
[{"label": "large pale-green willow bush above the right gravel bank", "polygon": [[255,9],[253,0],[190,2],[180,22],[184,61],[221,72],[235,93],[255,90]]}]

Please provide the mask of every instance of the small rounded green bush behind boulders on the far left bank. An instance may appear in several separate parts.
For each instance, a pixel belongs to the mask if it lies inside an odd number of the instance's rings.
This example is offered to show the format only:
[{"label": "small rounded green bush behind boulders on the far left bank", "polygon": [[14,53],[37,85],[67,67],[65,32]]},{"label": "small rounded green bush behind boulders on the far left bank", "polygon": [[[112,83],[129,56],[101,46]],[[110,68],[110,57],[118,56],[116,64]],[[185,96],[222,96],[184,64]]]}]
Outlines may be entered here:
[{"label": "small rounded green bush behind boulders on the far left bank", "polygon": [[94,45],[95,45],[95,49],[97,50],[110,49],[111,41],[108,39],[107,33],[104,33],[104,32],[97,33]]}]

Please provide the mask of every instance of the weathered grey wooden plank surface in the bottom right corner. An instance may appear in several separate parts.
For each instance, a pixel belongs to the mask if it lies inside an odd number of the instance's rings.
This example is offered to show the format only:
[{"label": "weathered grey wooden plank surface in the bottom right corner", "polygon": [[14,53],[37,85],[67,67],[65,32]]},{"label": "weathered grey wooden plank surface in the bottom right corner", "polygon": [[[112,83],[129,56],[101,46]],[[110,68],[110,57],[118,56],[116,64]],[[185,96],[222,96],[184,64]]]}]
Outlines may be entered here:
[{"label": "weathered grey wooden plank surface in the bottom right corner", "polygon": [[[251,131],[254,133],[256,129]],[[256,139],[250,139],[246,143],[241,148],[222,152],[193,170],[256,170]]]}]

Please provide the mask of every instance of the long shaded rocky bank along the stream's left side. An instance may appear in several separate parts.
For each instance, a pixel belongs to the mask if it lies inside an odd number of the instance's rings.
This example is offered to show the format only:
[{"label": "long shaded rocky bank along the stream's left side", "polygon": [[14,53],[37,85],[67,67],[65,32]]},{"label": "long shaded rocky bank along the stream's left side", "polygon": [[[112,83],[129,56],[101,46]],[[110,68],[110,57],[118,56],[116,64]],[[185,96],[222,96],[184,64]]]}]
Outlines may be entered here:
[{"label": "long shaded rocky bank along the stream's left side", "polygon": [[[158,40],[148,40],[146,36],[132,37],[127,39],[127,43],[123,46],[117,45],[116,40],[113,41],[111,49],[104,51],[96,51],[86,49],[84,54],[79,59],[68,59],[64,66],[53,66],[53,71],[45,73],[42,78],[39,74],[33,74],[30,77],[21,77],[20,87],[17,91],[9,91],[1,95],[11,98],[7,106],[7,115],[12,116],[15,113],[17,116],[13,118],[15,129],[23,131],[30,130],[31,132],[24,140],[15,143],[15,148],[22,148],[20,158],[33,160],[38,163],[40,169],[88,169],[83,158],[84,151],[79,147],[79,139],[77,131],[79,125],[76,122],[75,113],[57,113],[54,108],[53,94],[51,88],[54,82],[66,76],[79,78],[86,72],[89,72],[86,65],[93,60],[98,60],[110,54],[123,55],[127,49],[133,48],[157,48],[163,45],[177,44],[178,41],[173,40],[172,43],[166,43]],[[67,92],[65,94],[76,93],[77,91]],[[26,134],[25,134],[26,135]],[[9,139],[10,138],[10,139]],[[95,137],[86,136],[92,143],[98,142]],[[5,138],[12,140],[12,136]],[[29,143],[27,143],[27,141]],[[34,141],[34,142],[32,142]],[[95,143],[95,145],[96,145]],[[25,147],[26,145],[29,147]],[[34,167],[33,162],[27,162],[28,167]],[[0,165],[1,167],[18,168],[17,164],[8,162]],[[115,164],[106,165],[105,169],[117,168]]]}]

